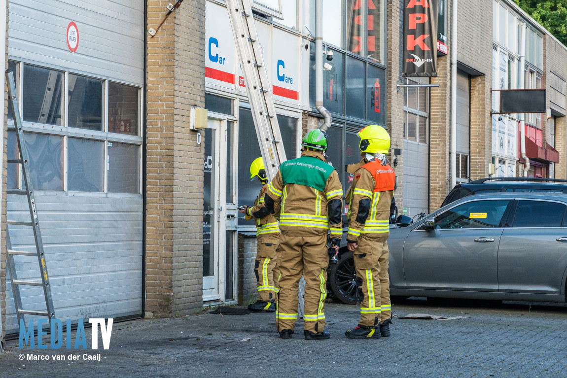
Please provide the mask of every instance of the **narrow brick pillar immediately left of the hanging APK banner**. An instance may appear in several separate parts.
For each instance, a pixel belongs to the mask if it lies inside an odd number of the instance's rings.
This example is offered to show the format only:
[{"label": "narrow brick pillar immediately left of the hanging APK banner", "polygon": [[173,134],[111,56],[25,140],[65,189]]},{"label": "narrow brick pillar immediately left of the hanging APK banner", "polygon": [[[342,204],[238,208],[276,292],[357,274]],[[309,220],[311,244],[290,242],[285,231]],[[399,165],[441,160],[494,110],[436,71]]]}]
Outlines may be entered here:
[{"label": "narrow brick pillar immediately left of the hanging APK banner", "polygon": [[[403,36],[403,2],[388,0],[387,2],[387,70],[386,70],[386,129],[392,139],[388,159],[393,162],[394,148],[404,148],[404,91],[397,90],[397,83],[401,82],[401,49]],[[392,168],[397,177],[395,193],[398,209],[404,207],[404,158],[403,153],[397,156],[397,167]]]}]

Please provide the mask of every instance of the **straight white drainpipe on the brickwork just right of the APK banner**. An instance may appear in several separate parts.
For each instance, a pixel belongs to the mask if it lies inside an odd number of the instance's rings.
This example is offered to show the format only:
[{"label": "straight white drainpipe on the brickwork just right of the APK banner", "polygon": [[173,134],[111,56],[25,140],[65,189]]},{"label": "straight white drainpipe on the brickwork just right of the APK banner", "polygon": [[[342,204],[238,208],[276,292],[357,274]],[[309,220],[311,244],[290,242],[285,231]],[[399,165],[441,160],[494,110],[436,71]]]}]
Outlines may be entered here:
[{"label": "straight white drainpipe on the brickwork just right of the APK banner", "polygon": [[451,189],[457,184],[457,1],[451,13]]}]

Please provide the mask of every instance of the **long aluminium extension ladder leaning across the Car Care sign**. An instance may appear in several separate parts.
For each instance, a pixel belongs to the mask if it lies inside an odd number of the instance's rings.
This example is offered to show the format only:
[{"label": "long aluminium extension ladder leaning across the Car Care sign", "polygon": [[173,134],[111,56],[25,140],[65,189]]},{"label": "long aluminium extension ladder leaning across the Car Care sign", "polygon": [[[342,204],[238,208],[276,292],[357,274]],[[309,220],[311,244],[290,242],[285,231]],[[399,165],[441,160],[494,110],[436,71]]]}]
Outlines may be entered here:
[{"label": "long aluminium extension ladder leaning across the Car Care sign", "polygon": [[[264,66],[256,24],[252,15],[251,1],[226,0],[226,6],[250,101],[256,135],[266,166],[266,175],[268,180],[272,181],[276,177],[280,164],[287,159],[272,99],[272,88]],[[305,281],[302,277],[299,282],[299,317],[303,317],[304,286]]]}]

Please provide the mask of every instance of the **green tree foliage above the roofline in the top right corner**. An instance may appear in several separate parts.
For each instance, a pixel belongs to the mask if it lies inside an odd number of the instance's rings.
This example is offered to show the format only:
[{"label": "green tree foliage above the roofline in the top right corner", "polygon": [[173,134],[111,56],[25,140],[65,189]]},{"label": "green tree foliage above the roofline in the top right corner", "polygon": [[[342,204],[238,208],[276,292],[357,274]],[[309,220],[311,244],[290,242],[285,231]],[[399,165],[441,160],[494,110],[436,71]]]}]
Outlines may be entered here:
[{"label": "green tree foliage above the roofline in the top right corner", "polygon": [[567,45],[567,0],[514,0],[528,15]]}]

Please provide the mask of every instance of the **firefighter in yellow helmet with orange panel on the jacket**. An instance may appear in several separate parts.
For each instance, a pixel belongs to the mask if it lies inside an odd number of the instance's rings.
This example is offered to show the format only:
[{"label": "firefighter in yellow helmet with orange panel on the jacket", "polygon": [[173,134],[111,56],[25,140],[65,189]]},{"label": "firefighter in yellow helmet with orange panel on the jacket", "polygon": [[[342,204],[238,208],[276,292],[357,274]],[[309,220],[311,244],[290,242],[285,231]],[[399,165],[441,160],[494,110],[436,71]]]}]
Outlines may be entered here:
[{"label": "firefighter in yellow helmet with orange panel on the jacket", "polygon": [[346,199],[349,202],[346,240],[347,248],[354,254],[357,282],[364,299],[358,326],[345,335],[349,338],[390,337],[392,311],[386,240],[396,182],[386,158],[390,135],[381,126],[371,125],[359,131],[358,136],[363,159],[347,167],[349,173],[354,173],[354,180]]}]

